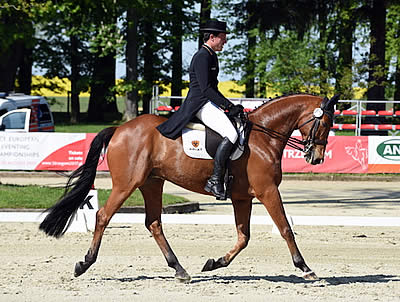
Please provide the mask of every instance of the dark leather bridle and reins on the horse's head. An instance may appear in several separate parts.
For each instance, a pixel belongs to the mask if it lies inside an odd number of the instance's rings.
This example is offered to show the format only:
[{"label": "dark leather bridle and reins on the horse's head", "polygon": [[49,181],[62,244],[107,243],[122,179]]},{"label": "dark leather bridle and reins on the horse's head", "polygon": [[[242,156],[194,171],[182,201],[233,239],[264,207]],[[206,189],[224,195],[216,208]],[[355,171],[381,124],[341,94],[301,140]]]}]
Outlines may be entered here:
[{"label": "dark leather bridle and reins on the horse's head", "polygon": [[[303,126],[313,122],[310,132],[308,133],[308,136],[305,140],[300,140],[295,137],[291,137],[285,134],[282,134],[278,131],[266,128],[262,125],[259,125],[257,123],[253,123],[253,129],[254,131],[259,131],[262,133],[265,133],[269,135],[272,138],[279,139],[282,142],[286,142],[286,144],[289,147],[292,147],[296,150],[299,150],[304,153],[309,153],[314,145],[322,145],[326,146],[328,143],[328,140],[321,140],[315,138],[315,135],[317,134],[317,131],[321,125],[321,120],[324,117],[324,115],[327,115],[329,117],[331,125],[333,124],[333,111],[332,110],[327,110],[324,106],[324,103],[321,104],[321,107],[315,108],[313,112],[313,116],[307,120],[306,122],[302,123],[298,129],[302,128]],[[254,126],[258,128],[254,128]]]}]

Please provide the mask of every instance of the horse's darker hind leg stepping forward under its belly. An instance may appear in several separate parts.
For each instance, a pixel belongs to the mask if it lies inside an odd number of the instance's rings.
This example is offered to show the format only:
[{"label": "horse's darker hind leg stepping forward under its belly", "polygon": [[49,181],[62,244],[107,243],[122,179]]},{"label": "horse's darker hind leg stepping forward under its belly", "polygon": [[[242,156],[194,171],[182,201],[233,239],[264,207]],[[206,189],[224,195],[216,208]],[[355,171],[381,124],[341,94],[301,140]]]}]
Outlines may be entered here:
[{"label": "horse's darker hind leg stepping forward under its belly", "polygon": [[161,211],[163,185],[164,180],[148,178],[146,183],[139,187],[145,202],[146,228],[156,240],[161,252],[167,260],[168,266],[175,269],[175,278],[182,282],[189,282],[191,279],[189,274],[179,263],[178,258],[172,251],[162,229]]}]

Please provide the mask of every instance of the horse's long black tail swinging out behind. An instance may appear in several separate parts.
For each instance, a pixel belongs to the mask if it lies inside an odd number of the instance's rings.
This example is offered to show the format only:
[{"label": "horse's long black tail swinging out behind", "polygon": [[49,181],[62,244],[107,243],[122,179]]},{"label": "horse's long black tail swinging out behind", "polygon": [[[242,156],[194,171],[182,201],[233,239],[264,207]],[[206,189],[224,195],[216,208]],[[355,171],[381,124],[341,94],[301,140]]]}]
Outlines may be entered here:
[{"label": "horse's long black tail swinging out behind", "polygon": [[47,235],[61,237],[70,226],[72,218],[78,208],[83,205],[94,183],[101,151],[107,148],[116,129],[116,127],[106,128],[96,135],[90,145],[85,163],[71,174],[59,201],[45,211],[48,214],[39,229]]}]

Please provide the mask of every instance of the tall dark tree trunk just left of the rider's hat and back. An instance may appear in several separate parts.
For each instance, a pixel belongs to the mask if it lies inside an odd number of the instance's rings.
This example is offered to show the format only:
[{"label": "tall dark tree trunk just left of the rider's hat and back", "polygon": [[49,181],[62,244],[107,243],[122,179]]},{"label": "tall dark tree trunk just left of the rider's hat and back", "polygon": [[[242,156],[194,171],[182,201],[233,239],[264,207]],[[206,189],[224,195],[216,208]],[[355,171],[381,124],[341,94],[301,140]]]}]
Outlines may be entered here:
[{"label": "tall dark tree trunk just left of the rider's hat and back", "polygon": [[[172,3],[172,14],[176,18],[176,21],[172,24],[172,83],[171,83],[171,95],[181,96],[182,95],[182,35],[183,27],[180,20],[183,19],[182,16],[182,5],[181,1],[174,1]],[[171,106],[180,106],[182,100],[172,99]]]}]

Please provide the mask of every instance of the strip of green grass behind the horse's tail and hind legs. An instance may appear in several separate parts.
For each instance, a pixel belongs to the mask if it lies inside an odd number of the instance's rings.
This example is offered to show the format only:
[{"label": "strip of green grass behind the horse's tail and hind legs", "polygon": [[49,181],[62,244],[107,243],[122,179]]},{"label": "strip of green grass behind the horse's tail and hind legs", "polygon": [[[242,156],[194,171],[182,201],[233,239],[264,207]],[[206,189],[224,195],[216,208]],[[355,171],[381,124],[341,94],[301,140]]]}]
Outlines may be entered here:
[{"label": "strip of green grass behind the horse's tail and hind legs", "polygon": [[[45,209],[56,203],[63,194],[63,188],[51,188],[42,186],[20,186],[0,184],[0,208],[27,208]],[[99,206],[102,206],[111,190],[97,190]],[[188,200],[170,194],[163,194],[163,205],[187,202]],[[125,201],[123,206],[142,206],[143,198],[140,191],[136,190]]]}]

